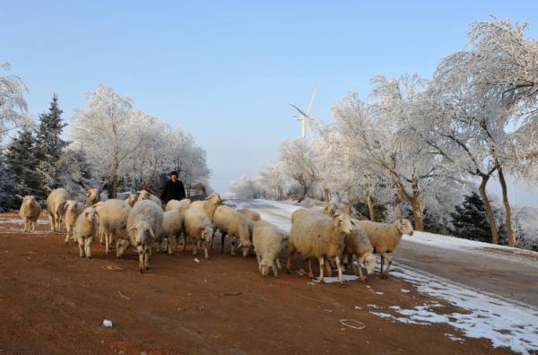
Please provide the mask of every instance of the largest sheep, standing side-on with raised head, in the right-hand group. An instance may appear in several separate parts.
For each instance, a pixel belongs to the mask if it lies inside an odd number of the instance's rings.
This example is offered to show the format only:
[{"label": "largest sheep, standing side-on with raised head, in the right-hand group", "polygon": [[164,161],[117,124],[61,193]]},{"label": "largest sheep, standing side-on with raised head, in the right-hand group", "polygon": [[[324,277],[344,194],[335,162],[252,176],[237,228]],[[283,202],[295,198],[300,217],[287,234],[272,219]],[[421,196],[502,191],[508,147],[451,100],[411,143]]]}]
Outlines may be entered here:
[{"label": "largest sheep, standing side-on with raised head, in the right-hand group", "polygon": [[351,233],[351,228],[351,219],[346,214],[329,217],[321,213],[311,213],[300,217],[291,225],[286,271],[290,273],[291,258],[298,251],[303,258],[308,259],[310,277],[314,277],[310,258],[317,258],[319,281],[323,282],[325,258],[334,258],[338,268],[338,281],[342,283],[340,255],[343,253],[344,237]]}]

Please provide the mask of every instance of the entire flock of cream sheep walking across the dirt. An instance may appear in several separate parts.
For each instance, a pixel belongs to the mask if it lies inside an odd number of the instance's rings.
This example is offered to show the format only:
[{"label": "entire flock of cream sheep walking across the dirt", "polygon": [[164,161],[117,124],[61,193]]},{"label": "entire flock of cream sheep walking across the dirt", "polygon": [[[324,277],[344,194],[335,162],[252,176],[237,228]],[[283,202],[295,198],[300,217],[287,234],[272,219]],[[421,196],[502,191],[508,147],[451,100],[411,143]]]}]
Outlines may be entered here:
[{"label": "entire flock of cream sheep walking across the dirt", "polygon": [[[115,246],[117,257],[129,247],[135,247],[139,256],[139,270],[149,268],[152,250],[185,251],[187,242],[192,244],[193,254],[204,250],[209,258],[213,236],[221,235],[221,252],[226,237],[230,241],[231,255],[247,256],[251,250],[256,254],[260,273],[273,271],[278,277],[281,268],[279,254],[287,241],[288,260],[286,271],[290,273],[291,259],[296,252],[308,262],[308,275],[313,278],[311,259],[319,264],[319,281],[332,275],[331,262],[338,270],[338,281],[343,281],[343,267],[351,264],[360,280],[364,281],[362,267],[367,274],[374,272],[376,257],[381,256],[381,277],[386,278],[392,258],[402,235],[412,235],[409,221],[399,219],[393,223],[358,221],[336,210],[333,203],[325,208],[299,209],[291,215],[290,234],[262,221],[257,212],[236,210],[222,204],[221,196],[209,195],[204,201],[188,199],[171,200],[162,208],[161,200],[143,190],[130,194],[125,200],[100,201],[100,190],[91,188],[86,192],[86,203],[70,199],[64,188],[57,188],[47,198],[50,229],[60,233],[65,224],[65,244],[70,239],[78,243],[80,256],[91,257],[91,244],[100,238],[108,254]],[[25,196],[19,211],[24,221],[24,231],[35,230],[41,207],[34,196]],[[353,262],[353,260],[355,262]],[[384,270],[385,261],[387,263]]]}]

